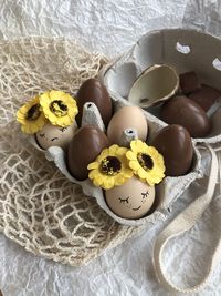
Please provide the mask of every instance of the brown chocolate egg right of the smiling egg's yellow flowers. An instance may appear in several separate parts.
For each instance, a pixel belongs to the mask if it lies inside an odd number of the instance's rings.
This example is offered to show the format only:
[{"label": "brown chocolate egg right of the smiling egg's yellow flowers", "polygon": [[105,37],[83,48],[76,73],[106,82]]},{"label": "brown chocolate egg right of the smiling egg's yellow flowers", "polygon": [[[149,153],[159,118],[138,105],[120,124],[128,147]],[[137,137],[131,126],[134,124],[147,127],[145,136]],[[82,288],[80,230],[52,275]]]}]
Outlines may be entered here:
[{"label": "brown chocolate egg right of the smiling egg's yellow flowers", "polygon": [[172,124],[164,127],[151,145],[162,154],[167,176],[181,176],[189,172],[193,147],[190,134],[183,126]]}]

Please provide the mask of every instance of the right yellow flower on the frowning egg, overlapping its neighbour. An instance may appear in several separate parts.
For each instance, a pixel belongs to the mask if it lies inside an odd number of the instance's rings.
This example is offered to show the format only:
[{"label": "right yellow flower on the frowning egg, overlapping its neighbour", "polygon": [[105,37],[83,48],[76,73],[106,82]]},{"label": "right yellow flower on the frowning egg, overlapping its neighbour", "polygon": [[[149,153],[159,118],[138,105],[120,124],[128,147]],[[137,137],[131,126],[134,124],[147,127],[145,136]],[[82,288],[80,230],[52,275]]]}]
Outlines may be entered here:
[{"label": "right yellow flower on the frowning egg, overlapping its neighbour", "polygon": [[53,125],[62,127],[71,125],[78,113],[74,98],[62,91],[44,92],[40,95],[40,104],[45,118]]}]

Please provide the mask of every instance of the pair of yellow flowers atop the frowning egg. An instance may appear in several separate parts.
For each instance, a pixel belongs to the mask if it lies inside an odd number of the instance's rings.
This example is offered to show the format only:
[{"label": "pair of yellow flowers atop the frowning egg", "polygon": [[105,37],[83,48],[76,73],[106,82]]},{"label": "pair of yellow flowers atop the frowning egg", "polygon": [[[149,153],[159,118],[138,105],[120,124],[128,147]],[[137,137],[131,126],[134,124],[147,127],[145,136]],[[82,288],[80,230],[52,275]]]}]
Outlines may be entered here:
[{"label": "pair of yellow flowers atop the frowning egg", "polygon": [[53,125],[69,126],[77,113],[74,98],[69,93],[51,90],[22,105],[17,112],[17,121],[21,124],[22,132],[34,134],[42,130],[48,121]]}]

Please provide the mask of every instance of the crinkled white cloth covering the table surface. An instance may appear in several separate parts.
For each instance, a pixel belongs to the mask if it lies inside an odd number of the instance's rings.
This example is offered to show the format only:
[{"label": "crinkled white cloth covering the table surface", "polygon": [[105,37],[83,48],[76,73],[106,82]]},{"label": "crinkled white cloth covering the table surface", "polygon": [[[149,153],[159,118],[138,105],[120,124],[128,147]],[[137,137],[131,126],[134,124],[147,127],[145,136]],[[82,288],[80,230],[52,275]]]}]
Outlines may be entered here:
[{"label": "crinkled white cloth covering the table surface", "polygon": [[[215,0],[2,0],[0,39],[67,37],[113,58],[152,29],[185,25],[221,35],[220,12]],[[0,289],[6,296],[171,295],[155,277],[152,244],[159,231],[199,196],[203,186],[204,182],[191,186],[164,225],[78,268],[33,256],[0,234]],[[165,264],[176,283],[200,280],[220,233],[221,201],[217,191],[196,227],[168,245]],[[209,285],[196,295],[221,295],[220,277],[218,265]]]}]

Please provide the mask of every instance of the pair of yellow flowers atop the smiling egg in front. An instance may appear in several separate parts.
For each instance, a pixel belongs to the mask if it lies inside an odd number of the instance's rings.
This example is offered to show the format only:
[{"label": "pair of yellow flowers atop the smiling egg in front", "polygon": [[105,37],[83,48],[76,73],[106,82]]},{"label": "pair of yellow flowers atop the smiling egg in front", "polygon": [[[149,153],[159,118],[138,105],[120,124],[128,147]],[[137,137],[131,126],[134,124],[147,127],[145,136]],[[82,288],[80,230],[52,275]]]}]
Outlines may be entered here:
[{"label": "pair of yellow flowers atop the smiling egg in front", "polygon": [[162,155],[140,140],[131,141],[130,149],[115,144],[103,150],[87,169],[93,184],[104,190],[123,185],[133,175],[150,186],[165,177]]}]

